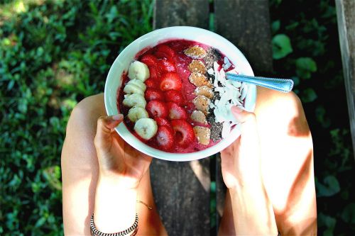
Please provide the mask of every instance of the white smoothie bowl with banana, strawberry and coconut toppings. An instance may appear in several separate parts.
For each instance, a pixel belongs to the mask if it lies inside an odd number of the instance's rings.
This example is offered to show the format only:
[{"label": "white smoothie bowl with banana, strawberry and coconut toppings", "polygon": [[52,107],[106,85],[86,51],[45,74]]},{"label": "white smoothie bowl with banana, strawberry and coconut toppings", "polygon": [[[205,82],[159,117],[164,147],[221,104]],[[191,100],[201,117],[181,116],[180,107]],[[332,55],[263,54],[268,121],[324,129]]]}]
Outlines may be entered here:
[{"label": "white smoothie bowl with banana, strawberry and coconut toppings", "polygon": [[107,114],[124,114],[116,132],[152,157],[209,157],[240,135],[231,106],[253,111],[256,103],[256,87],[229,81],[225,72],[253,76],[244,55],[222,36],[187,26],[154,30],[112,64]]}]

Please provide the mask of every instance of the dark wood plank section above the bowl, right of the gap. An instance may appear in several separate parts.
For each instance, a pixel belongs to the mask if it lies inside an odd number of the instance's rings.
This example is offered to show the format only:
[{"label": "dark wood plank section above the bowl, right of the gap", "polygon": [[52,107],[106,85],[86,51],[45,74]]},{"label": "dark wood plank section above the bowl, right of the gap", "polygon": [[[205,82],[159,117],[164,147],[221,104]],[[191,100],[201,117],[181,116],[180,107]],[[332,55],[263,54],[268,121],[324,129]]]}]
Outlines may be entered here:
[{"label": "dark wood plank section above the bowl, right of the gap", "polygon": [[236,45],[255,74],[271,72],[270,14],[268,0],[215,0],[216,33]]}]

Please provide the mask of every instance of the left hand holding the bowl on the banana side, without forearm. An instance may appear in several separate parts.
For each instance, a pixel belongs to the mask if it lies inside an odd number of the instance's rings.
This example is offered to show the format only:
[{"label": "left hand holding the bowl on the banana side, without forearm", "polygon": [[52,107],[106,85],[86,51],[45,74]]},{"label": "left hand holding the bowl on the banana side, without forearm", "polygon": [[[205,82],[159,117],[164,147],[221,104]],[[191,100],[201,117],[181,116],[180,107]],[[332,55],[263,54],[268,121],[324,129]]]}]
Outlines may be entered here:
[{"label": "left hand holding the bowl on the banana side, without forearm", "polygon": [[99,160],[99,177],[114,180],[124,189],[136,189],[152,158],[126,143],[114,128],[123,120],[121,114],[97,120],[94,145]]}]

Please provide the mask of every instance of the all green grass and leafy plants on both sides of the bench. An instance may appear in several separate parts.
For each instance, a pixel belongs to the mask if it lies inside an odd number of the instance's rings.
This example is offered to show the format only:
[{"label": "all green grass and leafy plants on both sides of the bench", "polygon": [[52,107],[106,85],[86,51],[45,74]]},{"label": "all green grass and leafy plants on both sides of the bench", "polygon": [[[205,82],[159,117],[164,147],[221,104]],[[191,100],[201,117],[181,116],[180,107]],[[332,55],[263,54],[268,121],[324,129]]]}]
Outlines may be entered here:
[{"label": "all green grass and leafy plants on both sides of the bench", "polygon": [[[104,90],[152,14],[150,0],[0,1],[0,235],[62,235],[70,112]],[[275,75],[295,80],[315,143],[319,234],[349,235],[355,168],[334,2],[273,0],[271,20]]]}]

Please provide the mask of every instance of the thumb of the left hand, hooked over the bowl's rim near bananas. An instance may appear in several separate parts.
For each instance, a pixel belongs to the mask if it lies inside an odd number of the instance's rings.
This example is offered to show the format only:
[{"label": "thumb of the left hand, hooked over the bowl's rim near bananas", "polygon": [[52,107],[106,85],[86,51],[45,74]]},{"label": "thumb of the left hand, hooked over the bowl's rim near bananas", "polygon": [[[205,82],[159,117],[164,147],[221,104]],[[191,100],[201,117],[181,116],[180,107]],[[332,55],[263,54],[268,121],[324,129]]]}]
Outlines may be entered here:
[{"label": "thumb of the left hand, hooked over the bowl's rim near bananas", "polygon": [[122,114],[101,116],[97,120],[97,131],[94,140],[95,146],[99,148],[109,147],[111,145],[111,130],[119,125],[123,119],[124,116]]}]

